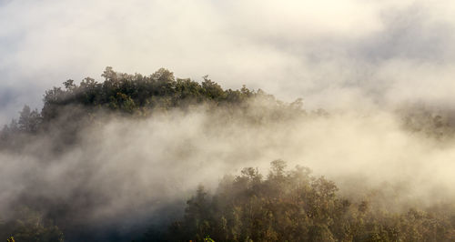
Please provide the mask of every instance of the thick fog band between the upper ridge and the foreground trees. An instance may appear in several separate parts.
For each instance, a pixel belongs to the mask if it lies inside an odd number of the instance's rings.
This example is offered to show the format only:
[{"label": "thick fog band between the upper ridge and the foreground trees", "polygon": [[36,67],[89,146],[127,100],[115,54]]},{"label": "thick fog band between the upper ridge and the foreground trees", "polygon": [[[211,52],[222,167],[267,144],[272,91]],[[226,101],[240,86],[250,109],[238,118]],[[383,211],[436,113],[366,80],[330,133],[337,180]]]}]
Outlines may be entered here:
[{"label": "thick fog band between the upper ridge and the foreground trees", "polygon": [[35,138],[21,154],[1,155],[0,212],[8,218],[25,204],[58,211],[56,222],[66,221],[70,236],[81,225],[122,235],[178,217],[198,185],[214,191],[243,167],[267,173],[275,159],[308,166],[337,182],[341,196],[391,211],[453,201],[450,139],[410,132],[402,116],[378,109],[277,119],[268,116],[274,108],[252,100],[247,113],[263,116],[259,123],[221,106],[157,110],[146,119],[98,117],[76,146],[57,155],[52,135]]}]

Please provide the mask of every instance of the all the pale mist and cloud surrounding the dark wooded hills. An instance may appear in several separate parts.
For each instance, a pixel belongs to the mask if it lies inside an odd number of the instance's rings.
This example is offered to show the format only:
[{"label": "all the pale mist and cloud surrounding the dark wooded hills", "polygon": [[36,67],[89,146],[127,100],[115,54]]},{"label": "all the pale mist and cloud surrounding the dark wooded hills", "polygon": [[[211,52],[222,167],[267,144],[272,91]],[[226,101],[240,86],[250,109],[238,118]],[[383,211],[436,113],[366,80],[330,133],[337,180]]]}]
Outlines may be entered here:
[{"label": "all the pale mist and cloud surrounding the dark wooded hills", "polygon": [[165,66],[277,98],[136,103],[139,117],[70,106],[38,135],[5,139],[0,218],[32,207],[72,241],[130,239],[181,217],[199,185],[213,194],[225,176],[267,174],[277,159],[388,211],[453,205],[454,11],[446,0],[0,0],[2,126],[105,66]]}]

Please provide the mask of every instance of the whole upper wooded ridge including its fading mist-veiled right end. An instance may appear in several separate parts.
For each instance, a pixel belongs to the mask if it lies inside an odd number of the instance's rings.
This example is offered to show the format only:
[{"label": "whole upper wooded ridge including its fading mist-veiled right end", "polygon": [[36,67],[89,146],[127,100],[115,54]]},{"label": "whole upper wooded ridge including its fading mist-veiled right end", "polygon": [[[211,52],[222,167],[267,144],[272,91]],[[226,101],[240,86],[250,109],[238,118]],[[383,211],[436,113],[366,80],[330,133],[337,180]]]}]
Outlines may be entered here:
[{"label": "whole upper wooded ridge including its fading mist-veiled right end", "polygon": [[[3,127],[0,147],[15,149],[33,140],[33,136],[45,136],[49,132],[58,134],[54,137],[59,139],[55,143],[71,145],[77,142],[81,129],[96,124],[102,117],[143,118],[193,106],[221,111],[226,119],[241,114],[250,122],[306,114],[300,98],[287,104],[260,89],[250,90],[246,86],[237,90],[223,89],[208,76],[203,76],[203,81],[198,83],[189,78],[176,78],[165,68],[143,76],[118,73],[108,66],[101,76],[105,78],[102,82],[86,77],[77,85],[70,79],[63,87],[45,91],[41,111],[24,106],[19,118]],[[250,107],[254,105],[255,110],[252,110]],[[223,108],[217,108],[219,106]],[[322,109],[313,114],[327,115]]]}]

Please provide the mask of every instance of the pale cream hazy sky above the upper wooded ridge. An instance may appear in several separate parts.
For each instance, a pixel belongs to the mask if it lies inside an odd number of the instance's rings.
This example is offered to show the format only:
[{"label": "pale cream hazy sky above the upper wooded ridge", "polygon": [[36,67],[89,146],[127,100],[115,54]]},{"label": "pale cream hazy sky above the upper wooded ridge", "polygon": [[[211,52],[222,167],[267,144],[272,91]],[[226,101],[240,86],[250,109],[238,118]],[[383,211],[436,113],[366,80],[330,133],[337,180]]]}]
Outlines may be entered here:
[{"label": "pale cream hazy sky above the upper wooded ridge", "polygon": [[309,107],[454,103],[450,0],[0,0],[0,123],[106,66]]}]

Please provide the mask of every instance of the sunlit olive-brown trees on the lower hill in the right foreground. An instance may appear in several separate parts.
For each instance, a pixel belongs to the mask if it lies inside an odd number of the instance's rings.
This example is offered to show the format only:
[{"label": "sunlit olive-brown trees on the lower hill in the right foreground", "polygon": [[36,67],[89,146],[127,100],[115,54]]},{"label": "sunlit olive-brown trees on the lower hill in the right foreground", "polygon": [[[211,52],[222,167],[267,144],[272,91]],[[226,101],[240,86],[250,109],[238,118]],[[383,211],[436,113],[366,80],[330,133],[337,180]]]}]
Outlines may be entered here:
[{"label": "sunlit olive-brown trees on the lower hill in the right foreground", "polygon": [[340,197],[334,182],[306,167],[285,167],[273,161],[268,176],[244,168],[213,195],[199,187],[181,220],[138,241],[455,241],[453,209],[379,210]]}]

